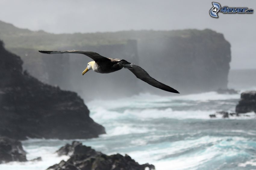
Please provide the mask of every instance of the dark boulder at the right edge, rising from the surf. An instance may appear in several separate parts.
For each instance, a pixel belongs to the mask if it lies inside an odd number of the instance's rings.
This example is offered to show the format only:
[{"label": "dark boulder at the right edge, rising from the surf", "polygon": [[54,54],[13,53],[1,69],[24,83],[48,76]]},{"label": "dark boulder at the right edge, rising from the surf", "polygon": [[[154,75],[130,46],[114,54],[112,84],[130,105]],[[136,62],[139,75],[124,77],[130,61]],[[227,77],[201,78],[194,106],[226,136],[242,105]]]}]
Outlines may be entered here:
[{"label": "dark boulder at the right edge, rising from the surf", "polygon": [[256,113],[256,91],[248,91],[241,94],[241,99],[236,105],[236,113]]}]

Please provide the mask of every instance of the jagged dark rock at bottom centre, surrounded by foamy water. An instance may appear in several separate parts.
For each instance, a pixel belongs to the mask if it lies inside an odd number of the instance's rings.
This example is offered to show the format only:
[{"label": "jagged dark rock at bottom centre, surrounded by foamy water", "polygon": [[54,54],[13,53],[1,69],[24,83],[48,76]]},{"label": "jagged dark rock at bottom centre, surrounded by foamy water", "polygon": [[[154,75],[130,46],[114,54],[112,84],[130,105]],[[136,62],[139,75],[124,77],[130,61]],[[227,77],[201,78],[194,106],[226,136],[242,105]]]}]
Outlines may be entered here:
[{"label": "jagged dark rock at bottom centre, surrounded by foamy water", "polygon": [[148,163],[139,165],[130,156],[122,156],[120,154],[105,155],[97,152],[91,147],[82,145],[78,141],[73,141],[72,145],[67,144],[61,147],[57,153],[59,155],[70,155],[70,159],[66,162],[61,161],[48,169],[53,170],[145,170],[155,169],[154,165]]}]

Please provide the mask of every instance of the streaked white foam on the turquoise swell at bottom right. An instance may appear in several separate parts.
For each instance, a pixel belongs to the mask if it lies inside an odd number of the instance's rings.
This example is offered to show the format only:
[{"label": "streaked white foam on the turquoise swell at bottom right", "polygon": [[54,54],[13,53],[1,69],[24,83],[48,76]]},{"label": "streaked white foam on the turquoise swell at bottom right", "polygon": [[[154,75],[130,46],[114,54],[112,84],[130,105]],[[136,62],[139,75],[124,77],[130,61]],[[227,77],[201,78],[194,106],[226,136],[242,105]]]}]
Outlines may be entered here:
[{"label": "streaked white foam on the turquoise swell at bottom right", "polygon": [[[232,139],[232,140],[230,140]],[[176,141],[172,143],[161,143],[154,147],[149,147],[148,150],[140,150],[129,152],[128,154],[139,163],[150,162],[156,166],[156,169],[197,169],[198,165],[206,163],[214,158],[225,159],[225,157],[236,156],[239,150],[233,151],[228,149],[224,152],[225,147],[236,147],[240,141],[246,141],[242,137],[213,137],[204,136],[198,139],[190,139],[184,141]],[[206,144],[212,146],[203,147],[195,152],[182,154],[183,151]],[[243,148],[244,146],[239,146]],[[179,154],[180,156],[173,156],[167,159],[161,159],[164,156]],[[160,160],[159,160],[160,159]],[[158,161],[156,161],[158,160]],[[246,162],[251,164],[252,161]],[[241,164],[243,166],[245,164]]]}]

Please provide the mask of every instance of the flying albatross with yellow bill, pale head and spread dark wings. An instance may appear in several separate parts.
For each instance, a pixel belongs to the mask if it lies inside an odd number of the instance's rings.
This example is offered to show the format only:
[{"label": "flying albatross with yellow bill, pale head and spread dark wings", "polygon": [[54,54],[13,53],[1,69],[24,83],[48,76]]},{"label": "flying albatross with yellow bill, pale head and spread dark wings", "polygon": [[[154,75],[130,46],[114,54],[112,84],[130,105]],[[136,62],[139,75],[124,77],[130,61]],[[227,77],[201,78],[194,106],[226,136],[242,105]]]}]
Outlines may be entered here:
[{"label": "flying albatross with yellow bill, pale head and spread dark wings", "polygon": [[99,55],[98,53],[91,52],[91,51],[78,51],[78,50],[71,50],[71,51],[39,51],[40,53],[45,54],[63,54],[63,53],[76,53],[76,54],[84,54],[94,61],[91,61],[87,64],[86,69],[83,71],[83,75],[89,71],[93,70],[97,73],[112,73],[114,71],[118,71],[122,68],[127,68],[130,70],[137,78],[146,83],[159,88],[161,90],[165,90],[167,92],[172,93],[179,93],[177,90],[173,89],[170,86],[165,85],[153,77],[151,77],[143,68],[134,63],[127,62],[124,59],[112,59],[107,58],[104,56]]}]

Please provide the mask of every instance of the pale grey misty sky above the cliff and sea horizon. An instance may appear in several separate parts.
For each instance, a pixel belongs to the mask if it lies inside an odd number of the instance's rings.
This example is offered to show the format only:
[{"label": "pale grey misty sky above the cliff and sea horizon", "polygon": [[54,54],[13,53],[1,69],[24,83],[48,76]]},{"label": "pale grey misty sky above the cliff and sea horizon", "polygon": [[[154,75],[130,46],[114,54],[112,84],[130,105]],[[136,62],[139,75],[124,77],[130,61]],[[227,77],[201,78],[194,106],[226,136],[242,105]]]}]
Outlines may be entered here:
[{"label": "pale grey misty sky above the cliff and sea horizon", "polygon": [[[52,33],[209,28],[223,33],[231,43],[231,69],[256,68],[256,14],[218,13],[218,19],[212,18],[211,2],[0,0],[0,20]],[[214,2],[256,10],[254,0]]]}]

